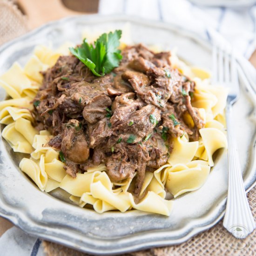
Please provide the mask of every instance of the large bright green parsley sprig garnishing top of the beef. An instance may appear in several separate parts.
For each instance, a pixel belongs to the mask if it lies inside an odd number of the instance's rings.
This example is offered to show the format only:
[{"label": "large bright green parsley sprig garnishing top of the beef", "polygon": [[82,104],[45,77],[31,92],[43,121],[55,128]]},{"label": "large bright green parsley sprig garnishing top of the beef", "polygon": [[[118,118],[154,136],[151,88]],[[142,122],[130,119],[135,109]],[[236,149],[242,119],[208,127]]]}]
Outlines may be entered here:
[{"label": "large bright green parsley sprig garnishing top of the beef", "polygon": [[119,46],[122,31],[102,34],[94,45],[88,44],[84,39],[80,47],[69,47],[70,52],[82,61],[96,76],[110,73],[114,67],[118,67],[122,59]]}]

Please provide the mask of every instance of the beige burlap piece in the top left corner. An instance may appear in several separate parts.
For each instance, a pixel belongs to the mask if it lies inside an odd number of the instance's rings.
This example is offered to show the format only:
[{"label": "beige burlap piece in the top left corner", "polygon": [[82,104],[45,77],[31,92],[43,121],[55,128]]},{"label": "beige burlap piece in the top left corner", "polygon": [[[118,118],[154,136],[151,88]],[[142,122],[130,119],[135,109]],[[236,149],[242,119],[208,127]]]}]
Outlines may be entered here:
[{"label": "beige burlap piece in the top left corner", "polygon": [[0,45],[27,31],[27,17],[13,1],[0,0]]}]

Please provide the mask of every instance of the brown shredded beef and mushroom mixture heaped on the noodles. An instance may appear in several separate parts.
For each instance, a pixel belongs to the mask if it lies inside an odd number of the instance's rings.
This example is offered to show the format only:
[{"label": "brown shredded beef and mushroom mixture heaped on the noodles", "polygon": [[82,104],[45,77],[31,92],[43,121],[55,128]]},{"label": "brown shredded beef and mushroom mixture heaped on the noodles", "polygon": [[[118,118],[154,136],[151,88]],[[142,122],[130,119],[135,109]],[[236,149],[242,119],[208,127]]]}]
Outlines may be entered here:
[{"label": "brown shredded beef and mushroom mixture heaped on the noodles", "polygon": [[195,83],[171,67],[169,52],[138,44],[122,56],[120,66],[102,77],[73,55],[61,56],[42,72],[35,127],[54,135],[48,145],[63,152],[67,174],[104,163],[112,182],[135,176],[139,195],[145,171],[166,163],[168,138],[186,132],[195,140],[204,122],[191,105]]}]

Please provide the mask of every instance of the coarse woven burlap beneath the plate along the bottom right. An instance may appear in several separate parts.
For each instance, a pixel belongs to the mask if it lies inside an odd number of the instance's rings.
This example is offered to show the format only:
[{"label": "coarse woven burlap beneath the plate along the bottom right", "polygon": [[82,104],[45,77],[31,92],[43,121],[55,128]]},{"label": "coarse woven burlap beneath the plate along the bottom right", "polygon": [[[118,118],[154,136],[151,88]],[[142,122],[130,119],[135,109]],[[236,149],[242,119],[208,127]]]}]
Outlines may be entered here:
[{"label": "coarse woven burlap beneath the plate along the bottom right", "polygon": [[[254,219],[256,219],[256,188],[248,193],[250,208]],[[44,251],[47,256],[86,256],[73,249],[52,242],[43,242]],[[256,255],[256,230],[245,239],[236,239],[223,228],[222,221],[211,229],[202,232],[189,241],[180,245],[148,249],[133,253],[124,254],[125,256],[255,256]]]}]

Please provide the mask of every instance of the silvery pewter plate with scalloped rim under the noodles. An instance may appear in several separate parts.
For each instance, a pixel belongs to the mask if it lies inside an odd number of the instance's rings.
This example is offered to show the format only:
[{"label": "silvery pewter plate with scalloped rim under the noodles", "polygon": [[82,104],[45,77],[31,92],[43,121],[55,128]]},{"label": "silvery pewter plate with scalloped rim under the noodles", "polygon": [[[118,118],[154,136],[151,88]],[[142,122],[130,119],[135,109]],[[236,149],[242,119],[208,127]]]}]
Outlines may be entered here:
[{"label": "silvery pewter plate with scalloped rim under the noodles", "polygon": [[[65,41],[79,43],[85,28],[102,31],[122,28],[126,22],[131,24],[134,42],[161,44],[166,49],[177,46],[180,57],[196,66],[210,68],[210,43],[185,28],[127,16],[92,15],[54,21],[2,46],[0,73],[14,61],[24,65],[36,45],[51,43],[58,47]],[[256,88],[251,82],[255,74],[248,61],[242,57],[237,61],[245,76],[240,77],[241,96],[234,107],[234,131],[244,185],[249,191],[256,183]],[[0,91],[0,100],[5,96]],[[84,252],[113,255],[182,243],[209,229],[224,215],[228,182],[226,150],[216,155],[216,164],[201,189],[174,200],[169,217],[137,210],[97,214],[81,209],[68,203],[68,195],[58,190],[51,195],[41,192],[18,168],[21,157],[0,137],[0,215],[31,235]]]}]

